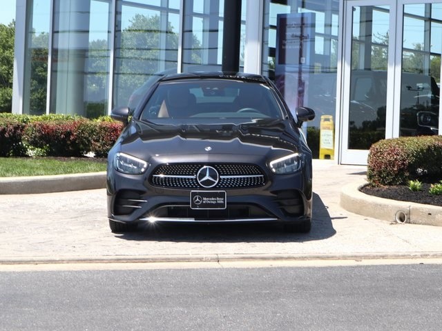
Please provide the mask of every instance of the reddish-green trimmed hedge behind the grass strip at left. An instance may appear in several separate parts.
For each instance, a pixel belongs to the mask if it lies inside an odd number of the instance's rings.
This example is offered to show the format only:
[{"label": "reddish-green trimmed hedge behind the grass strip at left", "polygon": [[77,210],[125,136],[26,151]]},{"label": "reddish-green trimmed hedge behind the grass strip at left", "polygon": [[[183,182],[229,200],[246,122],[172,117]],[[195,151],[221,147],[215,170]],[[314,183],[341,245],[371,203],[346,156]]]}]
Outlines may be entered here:
[{"label": "reddish-green trimmed hedge behind the grass strip at left", "polygon": [[0,116],[0,157],[106,157],[122,123],[110,117],[90,120],[69,115]]}]

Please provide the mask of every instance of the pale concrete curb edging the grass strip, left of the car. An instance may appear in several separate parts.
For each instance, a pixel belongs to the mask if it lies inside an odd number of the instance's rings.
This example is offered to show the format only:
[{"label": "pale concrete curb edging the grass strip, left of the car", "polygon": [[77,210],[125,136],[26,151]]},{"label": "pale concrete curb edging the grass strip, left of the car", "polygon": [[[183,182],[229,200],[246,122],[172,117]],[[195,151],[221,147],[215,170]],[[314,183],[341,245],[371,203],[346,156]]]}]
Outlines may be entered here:
[{"label": "pale concrete curb edging the grass strip, left of the car", "polygon": [[35,194],[106,188],[106,172],[0,178],[0,194]]}]

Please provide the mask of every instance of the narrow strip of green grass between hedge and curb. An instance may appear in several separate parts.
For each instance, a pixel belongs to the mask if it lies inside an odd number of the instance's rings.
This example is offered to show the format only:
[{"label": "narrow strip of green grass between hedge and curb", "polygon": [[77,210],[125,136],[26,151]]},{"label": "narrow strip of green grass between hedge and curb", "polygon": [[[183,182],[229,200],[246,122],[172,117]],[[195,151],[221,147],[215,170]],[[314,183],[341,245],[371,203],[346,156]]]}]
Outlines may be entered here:
[{"label": "narrow strip of green grass between hedge and curb", "polygon": [[0,157],[0,177],[79,174],[100,171],[106,171],[105,159]]}]

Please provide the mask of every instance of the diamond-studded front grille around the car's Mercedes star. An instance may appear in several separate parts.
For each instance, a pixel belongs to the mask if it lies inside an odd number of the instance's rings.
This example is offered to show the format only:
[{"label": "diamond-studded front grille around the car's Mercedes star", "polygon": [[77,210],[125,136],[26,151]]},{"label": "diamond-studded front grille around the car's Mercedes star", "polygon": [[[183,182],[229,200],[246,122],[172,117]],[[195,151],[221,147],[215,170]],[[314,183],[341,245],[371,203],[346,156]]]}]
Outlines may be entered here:
[{"label": "diamond-studded front grille around the car's Mercedes star", "polygon": [[257,165],[239,163],[164,164],[153,171],[150,183],[162,188],[202,188],[196,175],[204,165],[211,165],[220,174],[220,181],[211,189],[256,188],[265,185],[264,173]]}]

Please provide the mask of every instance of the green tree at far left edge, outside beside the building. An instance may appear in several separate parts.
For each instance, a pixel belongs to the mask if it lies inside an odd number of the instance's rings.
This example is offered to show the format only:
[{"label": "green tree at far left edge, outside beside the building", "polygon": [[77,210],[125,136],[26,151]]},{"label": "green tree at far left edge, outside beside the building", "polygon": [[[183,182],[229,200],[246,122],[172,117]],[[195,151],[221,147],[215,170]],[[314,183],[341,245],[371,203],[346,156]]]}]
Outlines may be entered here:
[{"label": "green tree at far left edge, outside beside the building", "polygon": [[0,24],[0,112],[12,111],[15,21]]}]

